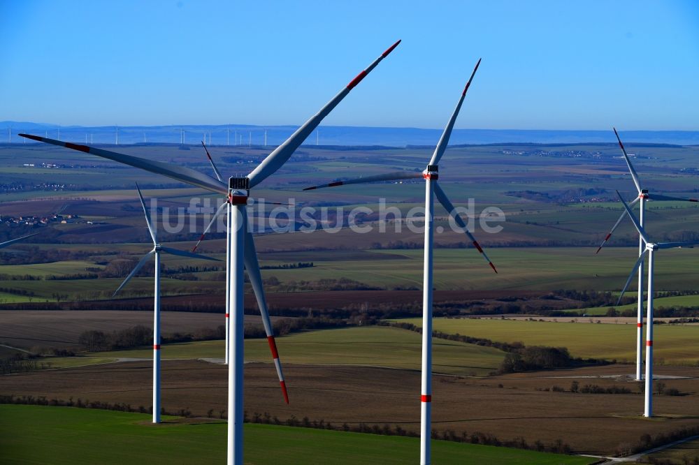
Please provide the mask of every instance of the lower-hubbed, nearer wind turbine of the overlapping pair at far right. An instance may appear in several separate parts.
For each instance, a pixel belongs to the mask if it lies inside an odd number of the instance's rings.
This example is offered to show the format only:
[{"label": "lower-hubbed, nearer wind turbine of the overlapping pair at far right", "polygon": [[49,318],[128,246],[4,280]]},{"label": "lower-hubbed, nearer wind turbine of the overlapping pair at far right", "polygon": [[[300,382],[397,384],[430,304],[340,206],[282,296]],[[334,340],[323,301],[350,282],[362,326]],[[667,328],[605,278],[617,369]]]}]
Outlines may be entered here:
[{"label": "lower-hubbed, nearer wind turbine of the overlapping pair at far right", "polygon": [[633,279],[633,274],[643,263],[643,256],[648,253],[648,314],[646,316],[646,388],[645,388],[645,400],[643,408],[643,416],[651,417],[653,416],[653,254],[657,250],[661,249],[677,249],[682,247],[693,247],[699,245],[699,241],[691,242],[651,242],[651,239],[647,232],[643,229],[643,226],[637,221],[631,209],[628,207],[624,199],[621,198],[621,194],[617,191],[619,199],[624,204],[624,210],[628,214],[631,221],[633,221],[633,226],[635,226],[638,234],[642,237],[646,246],[641,256],[636,260],[636,264],[631,270],[631,274],[628,275],[626,280],[626,285],[624,289],[621,290],[621,295],[624,295],[628,284]]}]

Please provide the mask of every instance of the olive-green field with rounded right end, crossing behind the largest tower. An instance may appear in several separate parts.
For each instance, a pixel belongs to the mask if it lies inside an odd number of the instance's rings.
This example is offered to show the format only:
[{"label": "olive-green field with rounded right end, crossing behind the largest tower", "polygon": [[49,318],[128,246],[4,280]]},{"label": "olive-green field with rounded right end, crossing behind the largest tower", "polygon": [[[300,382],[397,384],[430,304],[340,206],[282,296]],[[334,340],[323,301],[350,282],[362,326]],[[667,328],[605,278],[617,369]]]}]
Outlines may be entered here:
[{"label": "olive-green field with rounded right end, crossing behind the largest tower", "polygon": [[[341,330],[309,331],[277,338],[282,363],[335,364],[420,369],[421,336],[392,327],[351,327]],[[486,375],[500,366],[501,350],[433,339],[433,371],[456,375]],[[119,350],[92,354],[94,357],[150,358],[152,350]],[[224,341],[168,344],[162,347],[164,360],[222,358]],[[270,362],[265,339],[245,341],[247,362]]]}]

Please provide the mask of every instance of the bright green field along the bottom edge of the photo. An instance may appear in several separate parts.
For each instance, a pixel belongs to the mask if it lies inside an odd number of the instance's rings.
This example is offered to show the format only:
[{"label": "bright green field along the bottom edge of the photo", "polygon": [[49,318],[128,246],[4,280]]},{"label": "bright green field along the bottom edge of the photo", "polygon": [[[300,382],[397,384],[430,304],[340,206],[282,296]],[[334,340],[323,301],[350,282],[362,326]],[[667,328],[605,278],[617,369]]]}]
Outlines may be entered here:
[{"label": "bright green field along the bottom edge of the photo", "polygon": [[[83,408],[0,405],[6,464],[211,464],[226,459],[224,422],[160,426],[150,415]],[[435,464],[591,464],[589,457],[432,441]],[[405,464],[419,439],[245,425],[245,464]]]}]

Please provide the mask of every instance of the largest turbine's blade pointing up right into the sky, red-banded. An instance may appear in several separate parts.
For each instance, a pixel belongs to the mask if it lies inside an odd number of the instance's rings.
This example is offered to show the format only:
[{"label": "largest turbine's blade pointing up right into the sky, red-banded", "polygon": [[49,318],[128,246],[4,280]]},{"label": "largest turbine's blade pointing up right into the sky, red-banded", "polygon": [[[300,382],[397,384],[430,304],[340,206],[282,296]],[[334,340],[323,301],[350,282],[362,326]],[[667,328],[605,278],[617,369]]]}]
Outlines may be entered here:
[{"label": "largest turbine's blade pointing up right into the sky, red-banded", "polygon": [[334,96],[331,101],[326,103],[326,105],[319,110],[314,116],[312,116],[308,121],[306,121],[300,128],[296,129],[294,133],[289,137],[287,140],[285,140],[282,145],[274,149],[274,151],[269,154],[259,165],[257,165],[257,168],[252,170],[250,172],[250,175],[247,177],[250,178],[250,187],[257,186],[257,184],[261,183],[266,179],[268,176],[272,175],[275,171],[277,171],[279,168],[282,167],[284,163],[289,159],[291,154],[294,153],[294,151],[298,148],[299,145],[303,143],[303,141],[308,138],[308,135],[313,132],[315,128],[320,124],[321,121],[335,108],[340,101],[343,100],[349,94],[349,91],[354,89],[356,84],[359,84],[361,80],[363,80],[368,73],[370,73],[373,68],[377,66],[377,64],[380,63],[380,61],[388,56],[389,53],[391,53],[394,48],[398,46],[398,44],[401,43],[401,40],[398,40],[398,42],[394,43],[394,45],[391,45],[391,47],[388,48],[385,52],[381,54],[380,57],[375,59],[372,64],[368,66],[368,68],[364,69],[354,77],[352,81],[347,84],[345,89],[342,89],[336,96]]}]

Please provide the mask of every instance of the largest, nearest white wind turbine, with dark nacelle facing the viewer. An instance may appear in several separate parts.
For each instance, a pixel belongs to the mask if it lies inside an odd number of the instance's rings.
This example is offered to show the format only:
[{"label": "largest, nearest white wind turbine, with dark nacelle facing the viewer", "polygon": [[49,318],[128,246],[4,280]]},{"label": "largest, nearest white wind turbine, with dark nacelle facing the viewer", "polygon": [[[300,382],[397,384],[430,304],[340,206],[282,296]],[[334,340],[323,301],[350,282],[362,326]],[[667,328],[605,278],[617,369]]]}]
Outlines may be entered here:
[{"label": "largest, nearest white wind turbine, with dark nacelle facing the viewer", "polygon": [[[251,282],[260,275],[252,233],[247,230],[245,205],[247,205],[250,189],[257,186],[257,184],[261,183],[264,179],[273,175],[281,168],[289,157],[291,157],[291,154],[293,154],[301,143],[308,138],[308,135],[312,133],[320,122],[336,108],[338,103],[340,103],[340,101],[342,101],[343,98],[345,98],[347,94],[349,94],[349,92],[352,91],[380,61],[382,61],[382,59],[387,57],[399,43],[401,43],[401,40],[391,45],[391,47],[383,52],[380,57],[375,59],[372,64],[356,75],[347,86],[340,90],[336,96],[331,98],[331,101],[326,103],[315,115],[296,129],[287,140],[282,142],[282,145],[274,149],[249,175],[245,177],[230,177],[228,184],[220,182],[218,179],[214,179],[208,175],[204,175],[192,168],[176,166],[161,161],[150,161],[146,158],[97,149],[96,147],[89,147],[87,145],[77,145],[61,140],[41,138],[36,135],[21,134],[22,137],[101,156],[159,175],[171,177],[180,182],[201,187],[208,191],[226,195],[227,203],[224,204],[227,205],[228,212],[226,246],[229,250],[230,257],[228,263],[229,283],[227,288],[229,288],[229,306],[233,318],[232,323],[234,325],[234,336],[229,349],[229,359],[233,363],[229,364],[228,464],[243,464],[243,263],[245,263],[250,274]],[[255,288],[255,286],[253,286],[253,288]],[[261,280],[259,281],[259,288],[261,289]],[[264,298],[264,294],[257,295],[258,302],[260,298]],[[262,307],[260,310],[264,311]],[[273,352],[275,352],[275,349],[273,349]]]}]

